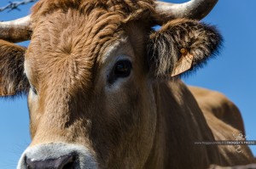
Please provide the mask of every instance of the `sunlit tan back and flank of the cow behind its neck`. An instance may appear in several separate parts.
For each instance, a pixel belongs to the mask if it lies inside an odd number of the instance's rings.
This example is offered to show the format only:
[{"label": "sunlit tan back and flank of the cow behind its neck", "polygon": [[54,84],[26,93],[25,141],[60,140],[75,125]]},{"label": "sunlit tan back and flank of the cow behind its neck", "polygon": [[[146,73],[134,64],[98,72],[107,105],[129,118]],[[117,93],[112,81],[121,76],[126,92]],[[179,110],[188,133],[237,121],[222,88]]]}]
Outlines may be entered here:
[{"label": "sunlit tan back and flank of the cow behind its neck", "polygon": [[[215,140],[243,140],[246,137],[240,110],[222,93],[189,87],[211,128]],[[239,138],[241,136],[241,138]],[[219,145],[222,165],[252,163],[253,154],[244,145]]]}]

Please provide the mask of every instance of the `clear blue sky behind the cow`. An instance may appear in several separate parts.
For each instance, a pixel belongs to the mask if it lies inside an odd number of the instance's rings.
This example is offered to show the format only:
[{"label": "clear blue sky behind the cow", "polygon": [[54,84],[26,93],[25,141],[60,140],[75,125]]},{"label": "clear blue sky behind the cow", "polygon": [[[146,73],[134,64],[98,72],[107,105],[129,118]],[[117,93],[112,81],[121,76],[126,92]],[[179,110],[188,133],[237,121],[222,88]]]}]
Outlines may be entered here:
[{"label": "clear blue sky behind the cow", "polygon": [[[0,7],[9,1],[1,0]],[[172,3],[186,1],[173,0]],[[184,79],[190,85],[207,87],[228,96],[241,110],[247,139],[256,140],[256,1],[220,0],[203,21],[217,25],[224,36],[224,47],[216,59]],[[0,13],[0,20],[13,20],[29,14],[30,5],[21,11]],[[28,42],[21,43],[26,46]],[[15,168],[30,143],[26,97],[0,99],[0,168]],[[256,155],[256,146],[251,146]]]}]

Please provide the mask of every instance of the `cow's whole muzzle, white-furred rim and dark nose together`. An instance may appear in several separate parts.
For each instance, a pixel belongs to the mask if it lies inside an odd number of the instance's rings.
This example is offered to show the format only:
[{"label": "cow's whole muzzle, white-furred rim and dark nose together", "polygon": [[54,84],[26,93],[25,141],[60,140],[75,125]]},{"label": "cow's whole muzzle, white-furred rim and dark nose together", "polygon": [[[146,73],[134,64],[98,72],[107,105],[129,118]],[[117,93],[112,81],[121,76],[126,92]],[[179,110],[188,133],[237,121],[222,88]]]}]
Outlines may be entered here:
[{"label": "cow's whole muzzle, white-furred rim and dark nose together", "polygon": [[39,144],[20,157],[17,169],[96,169],[89,149],[76,144]]}]

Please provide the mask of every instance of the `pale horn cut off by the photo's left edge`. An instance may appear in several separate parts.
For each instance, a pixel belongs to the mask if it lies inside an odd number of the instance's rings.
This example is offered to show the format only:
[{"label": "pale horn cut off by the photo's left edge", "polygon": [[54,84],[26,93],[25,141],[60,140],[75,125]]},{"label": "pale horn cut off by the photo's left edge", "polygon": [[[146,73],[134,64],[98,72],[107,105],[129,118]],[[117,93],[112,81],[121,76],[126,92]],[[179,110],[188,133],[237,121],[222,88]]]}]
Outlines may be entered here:
[{"label": "pale horn cut off by the photo's left edge", "polygon": [[30,15],[18,20],[0,22],[0,39],[9,42],[22,42],[30,39]]}]

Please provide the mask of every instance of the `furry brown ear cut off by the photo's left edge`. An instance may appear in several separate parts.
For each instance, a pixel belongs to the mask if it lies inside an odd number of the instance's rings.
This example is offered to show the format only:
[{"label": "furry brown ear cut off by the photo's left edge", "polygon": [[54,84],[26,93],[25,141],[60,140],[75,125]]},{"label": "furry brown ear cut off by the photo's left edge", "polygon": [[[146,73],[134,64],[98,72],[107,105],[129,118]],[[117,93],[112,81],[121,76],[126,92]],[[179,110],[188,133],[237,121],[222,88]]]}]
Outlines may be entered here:
[{"label": "furry brown ear cut off by the photo's left edge", "polygon": [[24,74],[26,48],[0,40],[0,96],[26,93],[29,82]]}]

